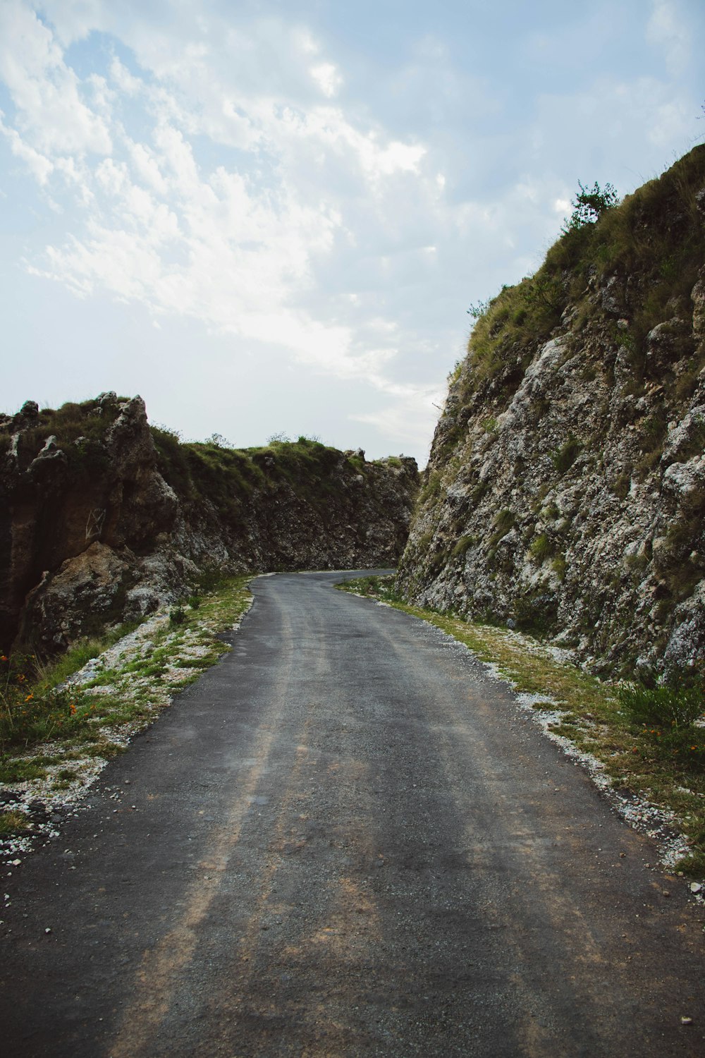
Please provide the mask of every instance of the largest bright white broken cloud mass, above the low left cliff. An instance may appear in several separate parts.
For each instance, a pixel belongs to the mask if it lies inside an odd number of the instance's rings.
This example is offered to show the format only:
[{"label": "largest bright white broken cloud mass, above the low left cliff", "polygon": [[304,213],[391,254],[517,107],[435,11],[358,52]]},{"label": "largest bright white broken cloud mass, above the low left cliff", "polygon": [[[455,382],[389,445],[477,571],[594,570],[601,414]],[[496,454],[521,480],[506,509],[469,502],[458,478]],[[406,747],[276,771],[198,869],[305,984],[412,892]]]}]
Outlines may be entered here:
[{"label": "largest bright white broken cloud mass, above the low left cliff", "polygon": [[[6,73],[15,101],[24,101],[29,114],[29,81],[37,99],[48,99],[61,80],[76,105],[81,85],[51,31],[26,11],[17,12],[29,44],[24,66],[19,63],[11,76]],[[78,32],[76,25],[73,32]],[[302,61],[318,54],[312,38],[299,33],[296,39]],[[370,202],[387,202],[396,189],[394,179],[421,180],[423,145],[391,139],[379,128],[358,127],[339,108],[315,101],[305,107],[281,107],[258,93],[239,93],[233,83],[214,87],[212,77],[203,81],[204,90],[187,107],[185,93],[178,98],[172,91],[170,75],[179,66],[181,74],[202,67],[207,50],[193,42],[169,59],[163,44],[153,47],[160,53],[159,83],[135,75],[116,58],[110,62],[110,88],[103,78],[92,78],[101,116],[80,104],[85,134],[74,130],[63,142],[73,165],[74,191],[90,206],[86,226],[47,247],[43,262],[32,263],[33,274],[64,284],[82,297],[105,290],[137,300],[157,315],[191,316],[245,340],[283,346],[315,370],[364,378],[377,390],[394,391],[394,383],[384,375],[395,354],[397,327],[392,320],[368,321],[367,340],[360,341],[335,313],[297,304],[315,289],[315,270],[330,257],[336,238],[346,235],[354,241],[354,233],[346,229],[339,191],[315,180],[307,187],[296,178],[303,171],[315,174],[317,158],[323,165],[334,160],[348,174],[356,174],[360,194]],[[312,73],[327,95],[341,83],[330,62]],[[111,110],[119,95],[142,99],[154,115],[148,139],[132,139],[117,108]],[[56,150],[54,132],[40,121],[42,113],[37,104],[25,123],[31,139]],[[240,126],[235,139],[249,158],[242,171],[225,165],[202,169],[191,138],[207,129],[212,139],[228,118]],[[52,162],[14,130],[6,134],[45,184]],[[106,149],[114,144],[114,151],[87,167],[82,156],[88,144]],[[274,162],[268,162],[263,185],[248,175],[261,147]],[[438,181],[429,186],[435,197]],[[388,204],[391,216],[398,206]]]}]

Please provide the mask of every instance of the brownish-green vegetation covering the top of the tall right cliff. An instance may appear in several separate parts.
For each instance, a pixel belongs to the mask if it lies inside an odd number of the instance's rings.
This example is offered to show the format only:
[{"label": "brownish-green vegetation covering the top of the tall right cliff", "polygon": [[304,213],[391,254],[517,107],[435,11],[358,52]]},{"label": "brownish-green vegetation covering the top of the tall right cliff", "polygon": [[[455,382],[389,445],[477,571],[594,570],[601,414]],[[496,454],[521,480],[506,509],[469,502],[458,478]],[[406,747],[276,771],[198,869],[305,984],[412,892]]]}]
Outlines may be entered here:
[{"label": "brownish-green vegetation covering the top of the tall right cliff", "polygon": [[[470,309],[476,324],[468,340],[465,396],[503,372],[512,390],[536,346],[560,325],[569,304],[581,307],[588,285],[606,275],[638,275],[648,291],[634,290],[625,304],[631,317],[625,336],[638,364],[646,334],[668,317],[667,303],[688,295],[705,259],[705,232],[697,195],[705,181],[705,146],[693,148],[662,177],[599,213],[594,223],[570,225],[533,275]],[[583,321],[585,322],[585,321]],[[512,377],[509,377],[512,376]],[[463,394],[461,394],[461,397]]]}]

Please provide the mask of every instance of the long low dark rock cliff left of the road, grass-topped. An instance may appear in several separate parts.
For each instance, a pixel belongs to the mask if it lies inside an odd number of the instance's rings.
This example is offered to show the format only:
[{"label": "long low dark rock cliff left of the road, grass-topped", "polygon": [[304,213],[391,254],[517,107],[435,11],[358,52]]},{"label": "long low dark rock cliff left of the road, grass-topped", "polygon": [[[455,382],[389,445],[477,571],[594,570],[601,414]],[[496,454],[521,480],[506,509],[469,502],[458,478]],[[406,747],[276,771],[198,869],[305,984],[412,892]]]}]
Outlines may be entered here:
[{"label": "long low dark rock cliff left of the road, grass-topped", "polygon": [[395,565],[413,459],[316,441],[238,451],[101,394],[0,417],[0,647],[66,647],[178,599],[205,570]]}]

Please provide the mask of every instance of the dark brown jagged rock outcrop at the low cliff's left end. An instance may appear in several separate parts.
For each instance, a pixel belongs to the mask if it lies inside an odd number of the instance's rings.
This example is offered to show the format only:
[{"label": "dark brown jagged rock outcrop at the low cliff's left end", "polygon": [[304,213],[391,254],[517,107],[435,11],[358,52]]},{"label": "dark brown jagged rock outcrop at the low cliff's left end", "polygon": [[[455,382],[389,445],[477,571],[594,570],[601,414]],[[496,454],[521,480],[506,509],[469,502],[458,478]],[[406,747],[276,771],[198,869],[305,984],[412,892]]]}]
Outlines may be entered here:
[{"label": "dark brown jagged rock outcrop at the low cliff's left end", "polygon": [[[57,435],[63,435],[60,443]],[[27,401],[0,422],[0,440],[6,443],[0,474],[0,641],[6,647],[20,625],[25,640],[34,640],[42,607],[61,608],[59,597],[68,598],[67,585],[82,566],[85,577],[100,585],[85,619],[68,620],[64,630],[60,620],[41,624],[49,641],[59,645],[71,638],[73,625],[97,627],[120,612],[117,587],[112,591],[104,583],[115,563],[111,567],[104,553],[101,563],[91,565],[85,552],[98,543],[104,552],[130,557],[148,548],[172,529],[178,499],[156,469],[140,397],[118,402],[114,394],[103,394],[52,414]],[[126,567],[123,584],[134,560],[115,562]],[[59,570],[61,587],[50,605],[43,600]],[[81,606],[86,590],[79,592]]]}]

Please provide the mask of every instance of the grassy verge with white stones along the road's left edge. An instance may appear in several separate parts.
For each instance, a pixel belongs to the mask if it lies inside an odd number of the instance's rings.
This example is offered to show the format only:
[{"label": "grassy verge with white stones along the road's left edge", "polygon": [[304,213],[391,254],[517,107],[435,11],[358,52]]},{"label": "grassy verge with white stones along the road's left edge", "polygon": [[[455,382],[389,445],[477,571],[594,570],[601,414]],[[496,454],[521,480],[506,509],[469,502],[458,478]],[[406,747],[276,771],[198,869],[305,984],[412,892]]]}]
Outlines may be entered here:
[{"label": "grassy verge with white stones along the road's left edge", "polygon": [[[32,656],[0,661],[0,786],[53,791],[78,788],[131,735],[171,704],[228,650],[222,634],[252,602],[252,576],[226,578],[168,613],[77,643],[55,663]],[[3,825],[16,819],[0,813]],[[16,815],[16,814],[15,814]]]}]

